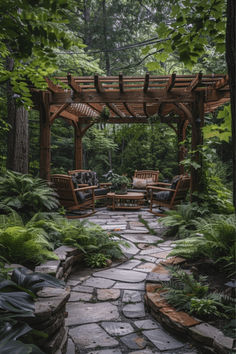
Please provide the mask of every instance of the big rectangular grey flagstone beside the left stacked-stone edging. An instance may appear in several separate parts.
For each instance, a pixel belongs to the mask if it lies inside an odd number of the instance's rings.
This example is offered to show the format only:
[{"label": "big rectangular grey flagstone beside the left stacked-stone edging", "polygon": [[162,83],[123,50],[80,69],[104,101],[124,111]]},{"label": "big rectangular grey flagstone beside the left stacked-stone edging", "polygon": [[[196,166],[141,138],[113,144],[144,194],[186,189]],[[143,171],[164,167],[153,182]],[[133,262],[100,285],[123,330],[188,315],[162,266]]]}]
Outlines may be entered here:
[{"label": "big rectangular grey flagstone beside the left stacked-stone edging", "polygon": [[117,307],[110,302],[95,304],[70,302],[67,304],[66,310],[68,312],[68,318],[66,319],[67,326],[111,321],[119,318]]}]

